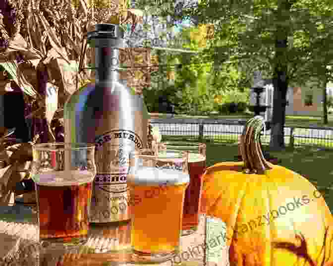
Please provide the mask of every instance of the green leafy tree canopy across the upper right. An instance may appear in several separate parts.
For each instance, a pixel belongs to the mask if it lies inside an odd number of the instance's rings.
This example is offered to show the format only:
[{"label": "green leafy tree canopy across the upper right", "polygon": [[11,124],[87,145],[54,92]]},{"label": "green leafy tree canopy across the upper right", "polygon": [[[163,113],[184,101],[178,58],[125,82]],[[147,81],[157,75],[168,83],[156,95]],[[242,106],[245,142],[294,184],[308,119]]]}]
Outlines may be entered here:
[{"label": "green leafy tree canopy across the upper right", "polygon": [[[177,15],[173,0],[137,2],[138,8],[169,15],[173,21],[195,17],[199,24],[213,23],[215,37],[202,56],[217,65],[250,62],[252,70],[264,70],[264,76],[272,78],[275,66],[285,63],[288,81],[296,84],[306,82],[309,74],[318,76],[323,61],[332,62],[332,0],[200,0],[196,7],[185,5]],[[284,37],[287,49],[277,56],[276,40]]]}]

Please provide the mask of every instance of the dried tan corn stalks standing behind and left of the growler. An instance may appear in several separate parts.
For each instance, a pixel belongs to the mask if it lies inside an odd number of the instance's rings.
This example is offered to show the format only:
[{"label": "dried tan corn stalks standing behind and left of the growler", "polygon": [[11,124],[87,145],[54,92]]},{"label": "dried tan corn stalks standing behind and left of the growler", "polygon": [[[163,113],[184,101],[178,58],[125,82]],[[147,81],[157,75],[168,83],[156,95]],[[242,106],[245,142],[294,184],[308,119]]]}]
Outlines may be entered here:
[{"label": "dried tan corn stalks standing behind and left of the growler", "polygon": [[[31,102],[26,103],[29,111],[25,118],[32,119],[35,128],[31,143],[13,143],[5,135],[6,129],[0,130],[0,203],[7,204],[16,182],[27,177],[20,170],[28,170],[32,144],[63,140],[62,107],[67,97],[94,79],[94,71],[85,69],[92,63],[92,50],[84,54],[84,70],[78,71],[86,33],[96,23],[132,24],[134,30],[143,13],[129,8],[129,0],[3,1],[6,8],[0,8],[0,65],[4,69],[0,71],[0,94],[8,93],[13,86],[19,88]],[[124,49],[123,62],[133,66],[141,53],[137,61],[149,64],[149,51],[141,50]],[[127,78],[131,77],[129,83],[149,83],[149,78],[143,77],[150,77],[150,71],[143,68],[141,75],[135,70],[126,71]],[[139,93],[145,82],[136,86]]]}]

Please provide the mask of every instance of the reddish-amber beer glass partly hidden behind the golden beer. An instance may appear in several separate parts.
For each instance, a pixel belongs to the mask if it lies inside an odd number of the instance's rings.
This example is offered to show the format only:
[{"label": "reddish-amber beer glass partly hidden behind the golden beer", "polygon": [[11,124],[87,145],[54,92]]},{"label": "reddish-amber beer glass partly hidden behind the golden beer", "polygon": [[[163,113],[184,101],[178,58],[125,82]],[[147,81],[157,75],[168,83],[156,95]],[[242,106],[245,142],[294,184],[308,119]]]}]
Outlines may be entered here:
[{"label": "reddish-amber beer glass partly hidden behind the golden beer", "polygon": [[188,172],[190,183],[185,192],[182,235],[189,235],[198,229],[202,194],[202,176],[206,170],[206,145],[195,142],[162,142],[158,144],[159,153],[165,149],[188,152]]}]

